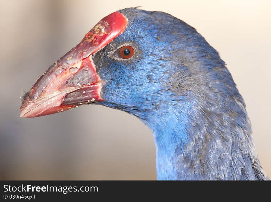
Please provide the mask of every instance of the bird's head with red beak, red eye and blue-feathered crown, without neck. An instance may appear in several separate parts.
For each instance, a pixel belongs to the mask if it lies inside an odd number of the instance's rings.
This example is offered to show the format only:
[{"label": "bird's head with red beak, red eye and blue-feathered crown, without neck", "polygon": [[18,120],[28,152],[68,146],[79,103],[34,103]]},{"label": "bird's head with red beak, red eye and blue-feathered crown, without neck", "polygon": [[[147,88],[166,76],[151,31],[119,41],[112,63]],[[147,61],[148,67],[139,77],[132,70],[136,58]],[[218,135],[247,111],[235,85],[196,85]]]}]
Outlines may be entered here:
[{"label": "bird's head with red beak, red eye and blue-feathered crown, without neck", "polygon": [[219,89],[229,95],[231,86],[224,62],[194,28],[170,14],[126,8],[99,21],[36,81],[20,116],[94,103],[147,122],[173,112],[185,120],[208,98],[223,100]]}]

